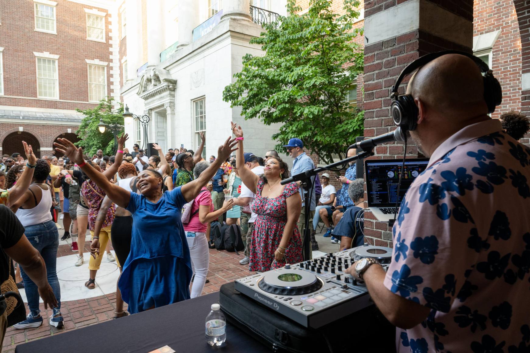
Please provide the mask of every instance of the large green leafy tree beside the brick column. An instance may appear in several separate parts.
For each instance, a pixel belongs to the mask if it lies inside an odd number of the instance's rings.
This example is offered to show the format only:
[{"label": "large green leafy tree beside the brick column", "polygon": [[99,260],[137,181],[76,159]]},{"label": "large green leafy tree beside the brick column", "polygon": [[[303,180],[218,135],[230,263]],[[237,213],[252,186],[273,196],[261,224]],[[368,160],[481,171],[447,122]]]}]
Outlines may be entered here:
[{"label": "large green leafy tree beside the brick column", "polygon": [[277,148],[290,138],[331,163],[332,153],[345,156],[343,147],[362,134],[364,112],[351,107],[346,95],[363,73],[364,51],[354,43],[362,30],[353,29],[360,2],[344,1],[343,15],[331,0],[310,0],[303,15],[288,0],[289,16],[264,24],[267,32],[251,39],[261,44],[263,56],[247,54],[235,82],[225,87],[223,99],[241,106],[246,119],[282,123],[273,139]]}]

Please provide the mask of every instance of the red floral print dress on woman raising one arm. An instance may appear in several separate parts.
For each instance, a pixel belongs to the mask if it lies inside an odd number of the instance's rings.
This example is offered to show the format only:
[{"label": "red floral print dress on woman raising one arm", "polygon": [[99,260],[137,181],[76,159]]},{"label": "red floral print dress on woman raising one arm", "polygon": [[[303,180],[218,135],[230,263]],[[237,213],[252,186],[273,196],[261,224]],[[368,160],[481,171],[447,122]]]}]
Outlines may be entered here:
[{"label": "red floral print dress on woman raising one arm", "polygon": [[293,235],[289,245],[285,250],[285,257],[282,261],[274,261],[274,253],[280,245],[281,237],[284,234],[287,222],[287,197],[298,193],[296,183],[289,183],[284,186],[284,190],[275,198],[261,196],[263,178],[260,179],[256,188],[256,197],[252,203],[252,211],[258,214],[252,230],[250,246],[251,271],[268,271],[273,268],[285,266],[285,264],[296,264],[303,260],[302,238],[298,227],[294,226]]}]

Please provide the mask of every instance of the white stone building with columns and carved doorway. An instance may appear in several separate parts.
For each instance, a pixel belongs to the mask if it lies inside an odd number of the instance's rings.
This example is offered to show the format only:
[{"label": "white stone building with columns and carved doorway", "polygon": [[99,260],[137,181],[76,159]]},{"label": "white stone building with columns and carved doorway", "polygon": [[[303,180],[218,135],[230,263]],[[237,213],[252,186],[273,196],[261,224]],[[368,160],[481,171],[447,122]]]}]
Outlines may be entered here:
[{"label": "white stone building with columns and carved doorway", "polygon": [[[262,11],[251,5],[263,8]],[[273,13],[286,15],[286,0],[125,0],[120,13],[121,96],[136,115],[147,114],[148,142],[195,150],[206,132],[204,156],[231,134],[230,122],[244,127],[245,150],[258,156],[276,144],[276,126],[258,119],[244,121],[241,109],[223,101],[225,86],[242,68],[250,44]],[[253,12],[251,14],[251,11]],[[123,34],[125,33],[125,35]],[[144,144],[139,121],[126,123],[127,147]]]}]

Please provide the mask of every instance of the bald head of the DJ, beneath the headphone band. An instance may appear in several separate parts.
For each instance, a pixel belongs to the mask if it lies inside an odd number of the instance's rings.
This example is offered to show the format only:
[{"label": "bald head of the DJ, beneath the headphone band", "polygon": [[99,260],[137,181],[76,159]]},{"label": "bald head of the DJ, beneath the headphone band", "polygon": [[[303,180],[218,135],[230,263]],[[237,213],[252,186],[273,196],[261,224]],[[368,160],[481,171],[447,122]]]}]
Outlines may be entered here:
[{"label": "bald head of the DJ, beneath the headphone band", "polygon": [[427,110],[476,116],[487,114],[479,67],[470,58],[448,54],[421,67],[411,78],[407,93],[419,98]]}]

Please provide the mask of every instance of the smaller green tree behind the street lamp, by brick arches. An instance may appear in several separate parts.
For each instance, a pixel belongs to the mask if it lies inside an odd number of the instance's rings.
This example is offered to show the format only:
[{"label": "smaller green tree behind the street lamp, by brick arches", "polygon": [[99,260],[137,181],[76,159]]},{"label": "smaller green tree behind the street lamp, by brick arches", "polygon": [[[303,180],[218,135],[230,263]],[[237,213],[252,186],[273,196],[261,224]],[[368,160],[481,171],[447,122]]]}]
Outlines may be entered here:
[{"label": "smaller green tree behind the street lamp, by brick arches", "polygon": [[98,106],[93,109],[81,110],[76,108],[77,112],[82,113],[85,117],[81,121],[77,135],[81,139],[76,142],[76,146],[82,146],[86,155],[92,156],[99,149],[103,150],[103,155],[110,156],[114,150],[114,135],[107,126],[104,133],[98,129],[100,119],[107,125],[120,125],[118,133],[123,132],[123,104],[120,103],[118,110],[113,110],[113,99],[103,98]]}]

